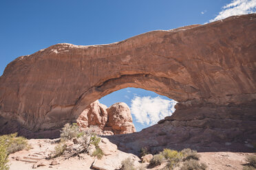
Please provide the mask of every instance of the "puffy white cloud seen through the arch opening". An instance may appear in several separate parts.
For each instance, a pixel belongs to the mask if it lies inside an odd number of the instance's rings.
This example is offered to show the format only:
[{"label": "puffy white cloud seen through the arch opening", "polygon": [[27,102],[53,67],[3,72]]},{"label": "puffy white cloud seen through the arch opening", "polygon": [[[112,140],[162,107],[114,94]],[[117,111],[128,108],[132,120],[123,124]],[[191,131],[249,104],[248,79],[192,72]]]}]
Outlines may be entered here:
[{"label": "puffy white cloud seen through the arch opening", "polygon": [[153,125],[171,116],[175,111],[177,101],[162,99],[160,97],[134,97],[131,100],[131,114],[134,114],[136,121],[143,125]]}]

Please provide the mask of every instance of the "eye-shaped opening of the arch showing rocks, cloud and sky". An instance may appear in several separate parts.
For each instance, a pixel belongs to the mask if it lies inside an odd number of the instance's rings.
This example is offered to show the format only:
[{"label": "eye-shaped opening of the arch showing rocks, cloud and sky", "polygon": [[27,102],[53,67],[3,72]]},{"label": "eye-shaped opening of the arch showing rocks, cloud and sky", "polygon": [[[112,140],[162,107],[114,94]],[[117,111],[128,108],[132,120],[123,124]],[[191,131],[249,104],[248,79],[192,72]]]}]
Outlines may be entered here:
[{"label": "eye-shaped opening of the arch showing rocks, cloud and sky", "polygon": [[140,132],[171,116],[176,103],[142,88],[122,88],[87,106],[77,122],[82,130],[98,126],[107,135]]}]

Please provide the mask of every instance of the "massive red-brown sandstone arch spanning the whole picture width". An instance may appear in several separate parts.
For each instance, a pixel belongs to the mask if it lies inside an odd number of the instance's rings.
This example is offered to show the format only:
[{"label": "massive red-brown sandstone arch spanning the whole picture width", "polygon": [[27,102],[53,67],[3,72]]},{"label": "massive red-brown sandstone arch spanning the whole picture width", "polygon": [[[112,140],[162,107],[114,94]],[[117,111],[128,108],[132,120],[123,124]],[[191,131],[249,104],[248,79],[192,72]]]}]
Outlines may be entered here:
[{"label": "massive red-brown sandstone arch spanning the whole picture width", "polygon": [[[167,121],[204,120],[202,127],[239,127],[255,138],[255,19],[232,16],[109,45],[63,43],[21,56],[0,77],[1,133],[56,130],[96,99],[137,87],[180,102]],[[220,120],[229,127],[216,124]]]}]

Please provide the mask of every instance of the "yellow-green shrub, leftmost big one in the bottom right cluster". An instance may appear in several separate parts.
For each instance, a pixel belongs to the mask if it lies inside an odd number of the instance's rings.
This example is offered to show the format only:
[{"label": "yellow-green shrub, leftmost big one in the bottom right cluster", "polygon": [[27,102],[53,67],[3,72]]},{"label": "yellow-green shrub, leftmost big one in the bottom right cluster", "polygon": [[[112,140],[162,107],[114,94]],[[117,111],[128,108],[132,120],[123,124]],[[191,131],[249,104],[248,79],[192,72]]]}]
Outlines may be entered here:
[{"label": "yellow-green shrub, leftmost big one in the bottom right cluster", "polygon": [[169,169],[173,169],[173,167],[178,165],[180,160],[182,160],[182,153],[180,151],[164,149],[160,154],[162,154],[162,156],[164,156],[164,158],[167,159],[167,167]]}]

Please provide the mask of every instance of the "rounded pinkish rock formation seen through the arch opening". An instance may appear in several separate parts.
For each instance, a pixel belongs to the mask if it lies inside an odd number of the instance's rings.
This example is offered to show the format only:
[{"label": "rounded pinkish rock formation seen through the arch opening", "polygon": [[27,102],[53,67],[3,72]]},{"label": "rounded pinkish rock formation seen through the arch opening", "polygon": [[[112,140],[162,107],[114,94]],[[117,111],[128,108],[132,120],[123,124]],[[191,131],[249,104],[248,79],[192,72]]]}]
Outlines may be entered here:
[{"label": "rounded pinkish rock formation seen through the arch opening", "polygon": [[103,134],[130,134],[136,132],[131,111],[125,103],[116,103],[107,108],[98,100],[83,110],[76,120],[83,129],[98,126]]}]

